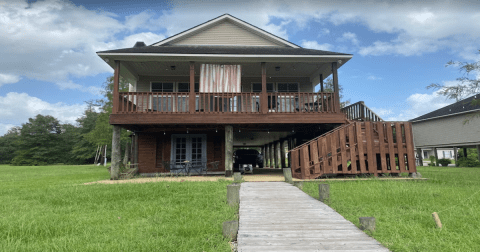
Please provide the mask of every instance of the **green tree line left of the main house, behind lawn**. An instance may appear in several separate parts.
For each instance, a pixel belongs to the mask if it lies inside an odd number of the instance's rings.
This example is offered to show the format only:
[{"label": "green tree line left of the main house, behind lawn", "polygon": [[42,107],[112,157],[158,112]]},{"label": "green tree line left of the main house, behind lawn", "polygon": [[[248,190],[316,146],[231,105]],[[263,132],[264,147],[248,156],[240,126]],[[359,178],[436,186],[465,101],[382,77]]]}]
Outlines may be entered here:
[{"label": "green tree line left of the main house, behind lawn", "polygon": [[[119,86],[120,91],[128,91],[128,83],[123,79]],[[103,97],[86,102],[87,108],[75,125],[38,114],[21,126],[12,127],[0,137],[0,164],[92,164],[99,145],[107,145],[111,150],[112,90],[113,77],[108,77]],[[129,135],[130,132],[122,130],[121,146],[130,141]],[[110,155],[107,151],[107,157]]]}]

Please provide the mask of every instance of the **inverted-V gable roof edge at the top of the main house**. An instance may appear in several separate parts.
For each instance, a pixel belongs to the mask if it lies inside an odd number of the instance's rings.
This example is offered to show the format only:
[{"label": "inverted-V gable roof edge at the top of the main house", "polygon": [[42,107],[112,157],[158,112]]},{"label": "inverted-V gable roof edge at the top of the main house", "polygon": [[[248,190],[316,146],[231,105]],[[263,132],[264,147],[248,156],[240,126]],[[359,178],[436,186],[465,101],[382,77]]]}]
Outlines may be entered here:
[{"label": "inverted-V gable roof edge at the top of the main house", "polygon": [[183,32],[180,32],[176,35],[173,35],[171,37],[168,37],[164,40],[161,40],[159,42],[156,42],[154,44],[152,44],[151,46],[165,46],[165,45],[171,45],[172,43],[174,42],[177,42],[177,41],[180,41],[180,40],[183,40],[183,39],[186,39],[194,34],[198,34],[199,32],[201,31],[205,31],[215,25],[218,25],[222,22],[225,22],[225,21],[229,21],[229,22],[232,22],[233,24],[259,36],[259,37],[262,37],[264,38],[265,40],[269,40],[269,41],[272,41],[273,43],[276,43],[276,44],[281,44],[281,45],[284,45],[286,47],[291,47],[291,48],[301,48],[300,46],[288,41],[288,40],[285,40],[285,39],[282,39],[276,35],[273,35],[272,33],[269,33],[265,30],[262,30],[252,24],[249,24],[241,19],[238,19],[234,16],[231,16],[230,14],[224,14],[224,15],[221,15],[219,17],[216,17],[212,20],[209,20],[205,23],[202,23],[202,24],[199,24],[195,27],[192,27],[188,30],[185,30]]}]

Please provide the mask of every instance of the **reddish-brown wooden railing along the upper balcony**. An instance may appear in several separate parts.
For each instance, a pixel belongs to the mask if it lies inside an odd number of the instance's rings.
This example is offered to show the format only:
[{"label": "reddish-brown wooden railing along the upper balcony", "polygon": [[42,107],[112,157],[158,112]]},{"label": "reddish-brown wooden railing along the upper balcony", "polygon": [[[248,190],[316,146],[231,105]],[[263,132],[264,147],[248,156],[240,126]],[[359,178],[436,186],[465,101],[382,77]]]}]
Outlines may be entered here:
[{"label": "reddish-brown wooden railing along the upper balcony", "polygon": [[[122,92],[117,113],[188,113],[190,93]],[[195,113],[337,113],[334,93],[195,93]]]}]

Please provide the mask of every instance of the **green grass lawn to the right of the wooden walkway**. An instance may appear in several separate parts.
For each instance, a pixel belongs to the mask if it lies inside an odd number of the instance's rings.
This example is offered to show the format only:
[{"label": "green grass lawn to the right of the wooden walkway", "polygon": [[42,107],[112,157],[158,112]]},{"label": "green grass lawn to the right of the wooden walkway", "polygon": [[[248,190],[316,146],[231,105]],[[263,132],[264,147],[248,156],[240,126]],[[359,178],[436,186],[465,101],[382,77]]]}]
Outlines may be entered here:
[{"label": "green grass lawn to the right of the wooden walkway", "polygon": [[[418,171],[428,180],[327,182],[328,204],[357,226],[359,217],[375,217],[371,235],[392,251],[480,251],[480,169]],[[317,183],[305,183],[303,190],[318,198]]]}]

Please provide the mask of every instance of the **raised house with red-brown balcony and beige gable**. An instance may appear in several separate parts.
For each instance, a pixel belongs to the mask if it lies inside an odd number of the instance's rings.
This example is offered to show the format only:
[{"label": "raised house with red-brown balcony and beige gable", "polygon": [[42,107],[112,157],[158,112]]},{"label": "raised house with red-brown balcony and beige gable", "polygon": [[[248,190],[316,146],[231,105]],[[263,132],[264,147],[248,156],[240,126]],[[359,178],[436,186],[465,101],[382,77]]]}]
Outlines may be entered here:
[{"label": "raised house with red-brown balcony and beige gable", "polygon": [[[261,147],[266,166],[293,167],[286,145],[350,123],[337,71],[351,54],[301,48],[228,14],[149,46],[97,54],[115,70],[114,141],[120,127],[134,133],[140,173],[213,163],[210,172],[230,176],[234,147]],[[119,93],[120,76],[129,92]],[[333,92],[324,90],[329,76]]]}]

